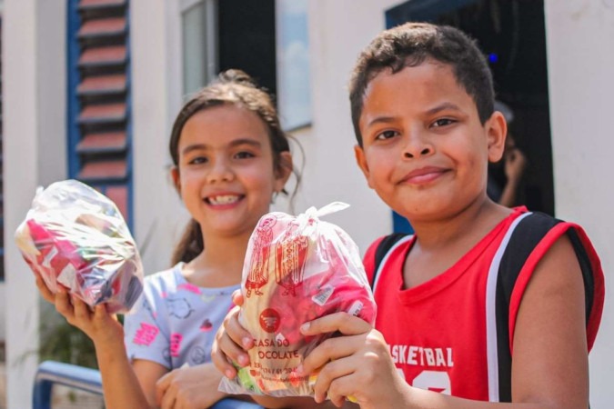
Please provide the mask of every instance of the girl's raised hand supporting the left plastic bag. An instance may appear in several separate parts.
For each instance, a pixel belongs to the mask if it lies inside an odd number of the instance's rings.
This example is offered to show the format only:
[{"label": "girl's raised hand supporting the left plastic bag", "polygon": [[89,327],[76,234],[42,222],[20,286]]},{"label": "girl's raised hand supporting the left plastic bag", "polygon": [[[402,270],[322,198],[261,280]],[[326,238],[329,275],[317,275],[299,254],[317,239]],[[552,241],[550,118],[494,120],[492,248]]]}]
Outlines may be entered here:
[{"label": "girl's raised hand supporting the left plastic bag", "polygon": [[35,275],[36,286],[43,298],[55,304],[55,310],[65,317],[68,324],[86,333],[96,347],[99,344],[123,344],[124,328],[117,321],[115,314],[106,312],[106,304],[98,304],[92,309],[78,297],[68,294],[68,290],[62,285],[59,285],[57,293],[53,294],[40,274]]}]

